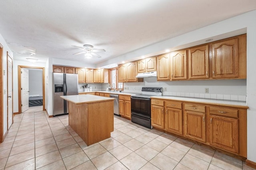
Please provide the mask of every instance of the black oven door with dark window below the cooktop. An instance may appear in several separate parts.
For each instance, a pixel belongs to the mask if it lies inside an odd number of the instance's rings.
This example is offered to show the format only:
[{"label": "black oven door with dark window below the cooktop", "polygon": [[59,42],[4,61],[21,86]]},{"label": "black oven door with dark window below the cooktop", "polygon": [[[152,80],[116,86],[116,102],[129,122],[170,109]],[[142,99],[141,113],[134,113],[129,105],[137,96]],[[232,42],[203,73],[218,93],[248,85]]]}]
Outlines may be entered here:
[{"label": "black oven door with dark window below the cooktop", "polygon": [[134,115],[151,117],[150,98],[131,97],[131,111]]}]

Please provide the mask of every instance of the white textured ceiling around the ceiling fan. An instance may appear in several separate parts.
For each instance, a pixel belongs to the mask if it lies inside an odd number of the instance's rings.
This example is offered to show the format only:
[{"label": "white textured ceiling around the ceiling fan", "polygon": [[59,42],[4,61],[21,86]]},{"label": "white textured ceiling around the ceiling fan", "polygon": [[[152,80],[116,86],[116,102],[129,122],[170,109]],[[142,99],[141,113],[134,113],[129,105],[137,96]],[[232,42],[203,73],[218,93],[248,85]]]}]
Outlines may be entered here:
[{"label": "white textured ceiling around the ceiling fan", "polygon": [[[1,0],[0,34],[14,60],[96,64],[256,9],[256,0]],[[72,47],[105,49],[101,58]],[[28,52],[29,53],[29,52]],[[134,56],[138,57],[138,56]]]}]

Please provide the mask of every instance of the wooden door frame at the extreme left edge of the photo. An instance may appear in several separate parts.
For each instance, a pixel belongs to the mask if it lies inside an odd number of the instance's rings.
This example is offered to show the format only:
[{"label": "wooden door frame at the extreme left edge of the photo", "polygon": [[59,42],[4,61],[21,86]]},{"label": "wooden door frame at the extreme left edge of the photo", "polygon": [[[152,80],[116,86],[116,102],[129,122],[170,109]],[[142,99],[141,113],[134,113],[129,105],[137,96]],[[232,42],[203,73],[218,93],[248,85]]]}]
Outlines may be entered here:
[{"label": "wooden door frame at the extreme left edge of the photo", "polygon": [[3,100],[4,100],[4,90],[3,90],[3,82],[4,82],[4,74],[3,74],[3,46],[0,43],[0,143],[4,141],[4,108],[3,108]]}]

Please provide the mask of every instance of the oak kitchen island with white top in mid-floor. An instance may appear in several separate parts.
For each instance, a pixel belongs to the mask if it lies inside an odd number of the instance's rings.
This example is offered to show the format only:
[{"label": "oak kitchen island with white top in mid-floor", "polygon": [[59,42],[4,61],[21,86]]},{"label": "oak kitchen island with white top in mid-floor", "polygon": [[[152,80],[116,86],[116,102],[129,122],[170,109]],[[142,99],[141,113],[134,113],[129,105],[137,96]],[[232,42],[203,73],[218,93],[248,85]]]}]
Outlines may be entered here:
[{"label": "oak kitchen island with white top in mid-floor", "polygon": [[69,103],[70,127],[86,145],[110,138],[114,131],[114,98],[90,94],[60,97]]}]

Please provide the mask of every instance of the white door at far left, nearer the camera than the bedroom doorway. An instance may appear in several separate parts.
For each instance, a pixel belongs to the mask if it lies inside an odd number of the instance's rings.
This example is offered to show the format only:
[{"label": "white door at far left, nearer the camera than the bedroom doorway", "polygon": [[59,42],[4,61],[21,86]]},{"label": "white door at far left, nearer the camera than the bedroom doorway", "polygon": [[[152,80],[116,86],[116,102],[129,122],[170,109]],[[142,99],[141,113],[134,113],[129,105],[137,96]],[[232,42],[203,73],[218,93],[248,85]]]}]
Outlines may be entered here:
[{"label": "white door at far left, nearer the camera than the bedroom doorway", "polygon": [[8,119],[8,129],[11,127],[12,125],[12,58],[10,56],[8,56],[8,115],[7,115],[7,119]]}]

